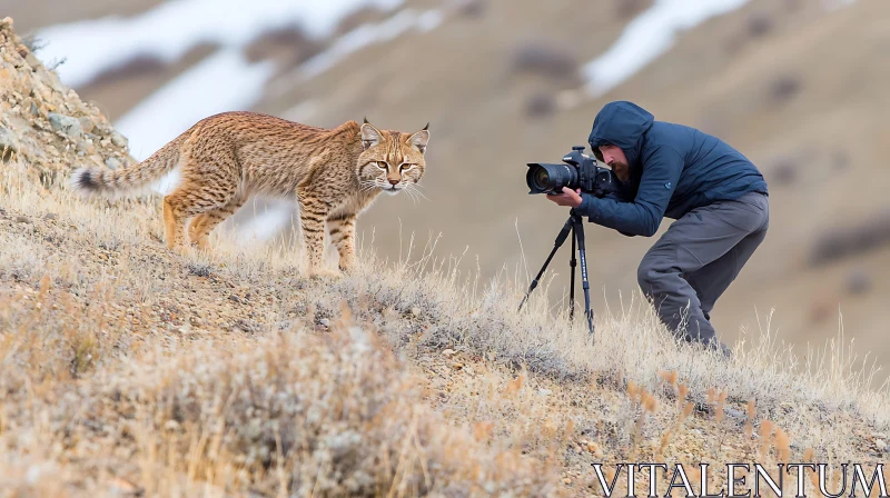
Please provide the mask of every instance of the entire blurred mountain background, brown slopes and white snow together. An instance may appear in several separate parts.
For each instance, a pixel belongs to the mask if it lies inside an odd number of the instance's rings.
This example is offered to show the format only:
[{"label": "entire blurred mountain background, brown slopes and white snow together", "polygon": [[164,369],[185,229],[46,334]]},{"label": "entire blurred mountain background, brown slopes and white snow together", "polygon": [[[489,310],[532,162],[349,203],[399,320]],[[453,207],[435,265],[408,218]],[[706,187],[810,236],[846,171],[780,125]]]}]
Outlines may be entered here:
[{"label": "entire blurred mountain background, brown slopes and white snow together", "polygon": [[[2,16],[136,159],[227,110],[431,122],[426,199],[380,199],[364,243],[394,260],[432,237],[436,256],[522,285],[567,217],[527,195],[525,163],[558,162],[605,102],[635,101],[726,140],[769,181],[771,228],[714,309],[721,338],[769,327],[805,351],[842,330],[890,366],[887,1],[3,0]],[[295,219],[268,200],[236,222],[290,240]],[[614,310],[655,238],[586,228],[593,306]],[[568,250],[551,265],[554,305]]]}]

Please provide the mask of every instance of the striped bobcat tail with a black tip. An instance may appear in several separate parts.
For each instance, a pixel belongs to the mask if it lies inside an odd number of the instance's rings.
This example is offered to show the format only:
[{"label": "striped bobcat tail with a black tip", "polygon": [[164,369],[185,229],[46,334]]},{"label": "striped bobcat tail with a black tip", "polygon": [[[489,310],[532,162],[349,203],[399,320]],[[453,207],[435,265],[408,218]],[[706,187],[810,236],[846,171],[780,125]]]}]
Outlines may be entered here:
[{"label": "striped bobcat tail with a black tip", "polygon": [[179,149],[188,133],[177,137],[145,161],[122,169],[78,168],[70,187],[81,196],[117,197],[145,191],[179,166]]}]

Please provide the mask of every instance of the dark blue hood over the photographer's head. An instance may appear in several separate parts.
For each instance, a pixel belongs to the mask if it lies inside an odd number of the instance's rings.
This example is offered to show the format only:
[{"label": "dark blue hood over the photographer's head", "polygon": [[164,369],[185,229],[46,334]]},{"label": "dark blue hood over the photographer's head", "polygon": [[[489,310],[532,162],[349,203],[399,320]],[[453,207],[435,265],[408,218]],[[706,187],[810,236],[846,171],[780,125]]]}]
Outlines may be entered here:
[{"label": "dark blue hood over the photographer's head", "polygon": [[621,147],[627,156],[627,163],[636,168],[643,147],[643,136],[652,127],[655,118],[642,107],[627,101],[609,102],[593,120],[593,129],[587,138],[593,155],[601,162],[600,146],[612,143]]}]

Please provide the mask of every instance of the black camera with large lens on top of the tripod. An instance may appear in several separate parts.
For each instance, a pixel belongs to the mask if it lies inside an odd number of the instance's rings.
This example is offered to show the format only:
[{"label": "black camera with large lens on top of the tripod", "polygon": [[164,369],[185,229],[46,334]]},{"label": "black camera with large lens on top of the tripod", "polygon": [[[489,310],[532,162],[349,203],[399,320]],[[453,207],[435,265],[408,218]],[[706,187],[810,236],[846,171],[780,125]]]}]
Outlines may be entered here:
[{"label": "black camera with large lens on top of the tripod", "polygon": [[596,166],[596,159],[584,153],[584,147],[573,147],[563,157],[562,165],[528,162],[525,182],[528,193],[562,193],[563,187],[581,189],[595,197],[604,197],[613,191],[613,173],[609,168]]}]

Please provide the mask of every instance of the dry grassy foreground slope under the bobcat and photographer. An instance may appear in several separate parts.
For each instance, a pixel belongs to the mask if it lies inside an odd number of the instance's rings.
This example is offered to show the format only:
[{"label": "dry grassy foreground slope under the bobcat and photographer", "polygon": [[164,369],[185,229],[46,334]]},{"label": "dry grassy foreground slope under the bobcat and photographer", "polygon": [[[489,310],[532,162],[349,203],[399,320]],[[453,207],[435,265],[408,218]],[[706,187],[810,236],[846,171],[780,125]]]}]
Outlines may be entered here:
[{"label": "dry grassy foreground slope under the bobcat and photographer", "polygon": [[[3,70],[46,83],[0,29]],[[72,137],[36,137],[36,157],[89,163]],[[43,167],[13,152],[0,169],[13,496],[597,496],[592,462],[887,458],[888,394],[844,348],[804,362],[753,335],[722,360],[669,341],[636,296],[592,339],[544,295],[516,313],[523,288],[418,241],[388,262],[366,243],[336,280],[307,279],[298,248],[219,235],[178,256],[157,197],[85,201]]]}]

